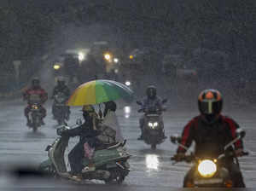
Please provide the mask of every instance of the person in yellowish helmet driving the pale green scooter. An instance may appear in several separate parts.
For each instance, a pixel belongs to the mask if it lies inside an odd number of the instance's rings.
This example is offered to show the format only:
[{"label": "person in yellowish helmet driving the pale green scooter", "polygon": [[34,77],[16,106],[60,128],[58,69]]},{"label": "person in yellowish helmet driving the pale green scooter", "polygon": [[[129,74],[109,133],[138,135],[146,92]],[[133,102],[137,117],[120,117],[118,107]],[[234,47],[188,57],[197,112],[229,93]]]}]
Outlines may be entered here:
[{"label": "person in yellowish helmet driving the pale green scooter", "polygon": [[[63,133],[67,136],[80,136],[79,143],[68,154],[68,160],[71,167],[71,174],[80,176],[83,165],[82,159],[86,156],[84,150],[87,145],[93,150],[102,148],[104,143],[115,142],[115,131],[106,125],[101,125],[98,114],[92,106],[84,106],[83,109],[84,124],[73,130],[67,130]],[[113,132],[114,131],[114,132]],[[92,161],[83,171],[95,171]]]}]

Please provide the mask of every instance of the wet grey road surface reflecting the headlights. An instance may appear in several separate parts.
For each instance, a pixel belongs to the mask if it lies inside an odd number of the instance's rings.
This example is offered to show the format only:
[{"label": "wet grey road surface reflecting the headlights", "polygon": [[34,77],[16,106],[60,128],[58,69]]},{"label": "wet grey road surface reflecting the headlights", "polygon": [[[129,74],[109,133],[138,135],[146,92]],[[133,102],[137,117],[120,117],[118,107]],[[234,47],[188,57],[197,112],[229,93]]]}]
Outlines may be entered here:
[{"label": "wet grey road surface reflecting the headlights", "polygon": [[[25,103],[20,100],[0,102],[0,166],[5,165],[38,165],[44,159],[47,159],[47,153],[44,148],[55,140],[56,121],[52,119],[49,101],[46,105],[48,115],[45,119],[45,126],[33,133],[26,127],[26,120],[23,116]],[[74,124],[75,120],[81,118],[80,107],[72,108],[72,115],[69,124]],[[230,117],[236,119],[245,130],[247,136],[244,140],[245,147],[250,152],[250,156],[240,159],[241,170],[248,188],[256,187],[256,108],[235,107],[224,111],[229,113]],[[125,113],[126,112],[126,113]],[[185,107],[170,108],[164,115],[166,126],[166,136],[173,133],[180,133],[184,124],[197,114],[197,110]],[[254,117],[253,117],[254,116]],[[133,155],[130,159],[131,171],[129,177],[126,177],[124,185],[125,190],[151,190],[161,188],[162,190],[177,190],[182,186],[183,176],[189,169],[189,165],[180,163],[172,165],[170,157],[175,153],[177,146],[169,140],[158,146],[157,150],[152,151],[150,146],[142,141],[137,141],[140,133],[138,128],[137,107],[131,107],[131,112],[127,109],[119,108],[119,123],[122,132],[127,139],[126,147]],[[72,142],[76,142],[74,138]],[[68,147],[72,149],[71,144]],[[101,182],[96,182],[101,183]],[[0,180],[0,187],[3,187],[4,181]]]}]

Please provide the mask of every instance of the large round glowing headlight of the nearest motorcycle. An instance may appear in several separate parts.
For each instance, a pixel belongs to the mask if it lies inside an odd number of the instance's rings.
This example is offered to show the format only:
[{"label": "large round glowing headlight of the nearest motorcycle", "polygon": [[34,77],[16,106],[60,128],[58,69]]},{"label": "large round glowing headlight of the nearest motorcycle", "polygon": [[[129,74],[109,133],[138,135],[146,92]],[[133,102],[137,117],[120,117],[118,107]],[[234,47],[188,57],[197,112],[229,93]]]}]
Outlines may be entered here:
[{"label": "large round glowing headlight of the nearest motorcycle", "polygon": [[210,159],[204,159],[197,167],[201,177],[212,177],[217,171],[217,165]]}]

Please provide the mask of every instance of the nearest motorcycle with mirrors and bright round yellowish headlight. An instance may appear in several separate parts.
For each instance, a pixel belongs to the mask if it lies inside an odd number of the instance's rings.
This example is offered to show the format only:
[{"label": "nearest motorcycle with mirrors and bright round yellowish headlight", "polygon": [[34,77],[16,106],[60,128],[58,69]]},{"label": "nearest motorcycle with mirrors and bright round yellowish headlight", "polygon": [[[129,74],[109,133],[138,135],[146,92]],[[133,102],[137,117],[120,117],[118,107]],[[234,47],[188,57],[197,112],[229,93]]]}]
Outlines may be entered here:
[{"label": "nearest motorcycle with mirrors and bright round yellowish headlight", "polygon": [[[236,165],[239,167],[239,162],[236,157],[236,153],[233,149],[229,149],[232,145],[237,142],[239,139],[242,139],[245,136],[245,131],[241,129],[236,130],[238,135],[236,139],[232,140],[224,147],[224,153],[221,153],[217,159],[212,159],[211,157],[197,157],[194,153],[185,155],[183,159],[178,161],[185,161],[187,163],[194,162],[194,166],[191,168],[193,171],[192,177],[189,177],[186,182],[184,182],[184,188],[232,188],[234,182],[232,182],[230,177],[230,172],[224,167],[224,161],[227,158],[235,159]],[[180,147],[188,150],[183,146],[181,142],[181,137],[171,136],[171,142],[179,145]],[[243,152],[242,155],[248,155],[247,152]],[[177,161],[177,158],[174,156],[172,160]],[[175,163],[176,163],[175,162]]]}]

